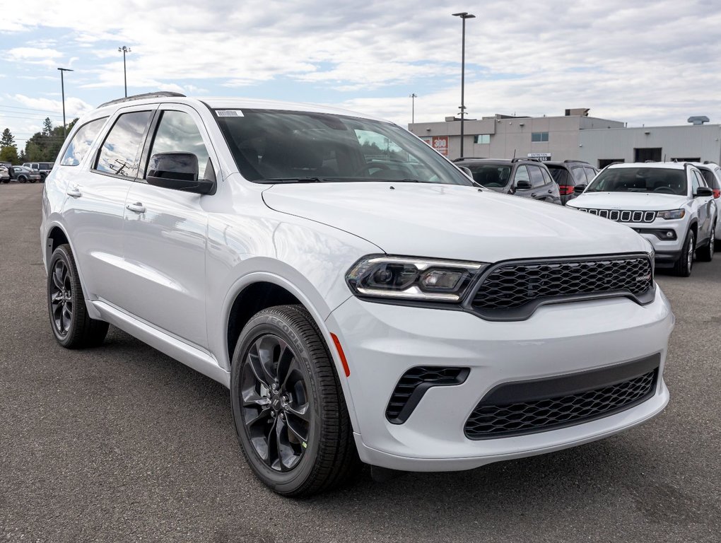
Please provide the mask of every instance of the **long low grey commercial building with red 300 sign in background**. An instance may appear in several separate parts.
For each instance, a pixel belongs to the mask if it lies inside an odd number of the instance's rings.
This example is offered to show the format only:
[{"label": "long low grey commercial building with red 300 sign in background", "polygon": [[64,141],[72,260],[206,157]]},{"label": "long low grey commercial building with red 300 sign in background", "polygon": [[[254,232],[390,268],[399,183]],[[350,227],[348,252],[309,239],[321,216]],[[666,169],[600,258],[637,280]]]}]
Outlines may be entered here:
[{"label": "long low grey commercial building with red 300 sign in background", "polygon": [[[645,160],[721,161],[721,125],[627,128],[618,120],[567,110],[558,117],[494,115],[464,123],[464,156],[539,160],[583,160],[596,167]],[[410,131],[439,152],[456,159],[461,122],[415,123]]]}]

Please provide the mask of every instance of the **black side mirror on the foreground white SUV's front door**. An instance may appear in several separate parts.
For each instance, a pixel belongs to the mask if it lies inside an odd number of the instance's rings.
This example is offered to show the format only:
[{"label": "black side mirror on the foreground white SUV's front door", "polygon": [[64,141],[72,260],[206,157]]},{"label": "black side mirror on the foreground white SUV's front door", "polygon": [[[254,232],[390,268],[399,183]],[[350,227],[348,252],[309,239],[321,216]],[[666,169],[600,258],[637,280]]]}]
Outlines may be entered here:
[{"label": "black side mirror on the foreground white SUV's front door", "polygon": [[214,180],[198,179],[198,156],[193,153],[159,153],[150,157],[146,181],[154,187],[186,193],[213,194]]}]

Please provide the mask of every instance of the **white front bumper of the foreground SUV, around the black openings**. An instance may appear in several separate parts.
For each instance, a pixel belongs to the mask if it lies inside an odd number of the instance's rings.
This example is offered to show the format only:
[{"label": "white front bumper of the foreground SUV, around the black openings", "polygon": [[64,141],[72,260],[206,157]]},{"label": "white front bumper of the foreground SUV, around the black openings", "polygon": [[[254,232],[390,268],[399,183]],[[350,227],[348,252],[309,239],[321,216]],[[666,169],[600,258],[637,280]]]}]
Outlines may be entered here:
[{"label": "white front bumper of the foreground SUV, around the black openings", "polygon": [[[347,391],[363,462],[408,471],[471,469],[580,445],[643,423],[668,402],[663,365],[673,314],[657,288],[651,304],[628,299],[542,306],[521,322],[487,322],[465,312],[375,304],[350,298],[327,319],[348,358]],[[473,441],[464,425],[498,384],[560,376],[657,354],[647,400],[598,420],[523,436]],[[402,424],[386,419],[400,376],[414,366],[470,368],[463,384],[428,389]]]}]

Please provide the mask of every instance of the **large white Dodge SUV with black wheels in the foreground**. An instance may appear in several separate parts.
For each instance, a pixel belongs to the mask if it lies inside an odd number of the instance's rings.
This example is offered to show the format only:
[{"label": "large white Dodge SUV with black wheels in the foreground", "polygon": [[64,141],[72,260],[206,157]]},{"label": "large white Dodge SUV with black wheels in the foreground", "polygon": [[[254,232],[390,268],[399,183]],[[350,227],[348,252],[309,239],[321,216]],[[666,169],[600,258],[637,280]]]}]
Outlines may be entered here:
[{"label": "large white Dodge SUV with black wheels in the foreground", "polygon": [[484,190],[358,113],[102,105],[48,175],[40,235],[56,340],[111,323],[229,387],[247,462],[284,495],[359,461],[557,451],[668,402],[673,314],[642,237]]}]

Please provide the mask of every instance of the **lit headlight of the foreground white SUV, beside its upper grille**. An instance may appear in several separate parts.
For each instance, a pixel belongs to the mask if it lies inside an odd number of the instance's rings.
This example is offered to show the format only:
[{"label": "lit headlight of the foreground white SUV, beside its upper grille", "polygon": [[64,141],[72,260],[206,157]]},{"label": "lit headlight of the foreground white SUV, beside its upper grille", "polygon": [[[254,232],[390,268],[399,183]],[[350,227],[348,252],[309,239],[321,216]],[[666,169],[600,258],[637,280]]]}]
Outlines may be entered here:
[{"label": "lit headlight of the foreground white SUV, beside its upper grille", "polygon": [[345,274],[356,296],[417,301],[461,301],[485,262],[369,255]]}]

